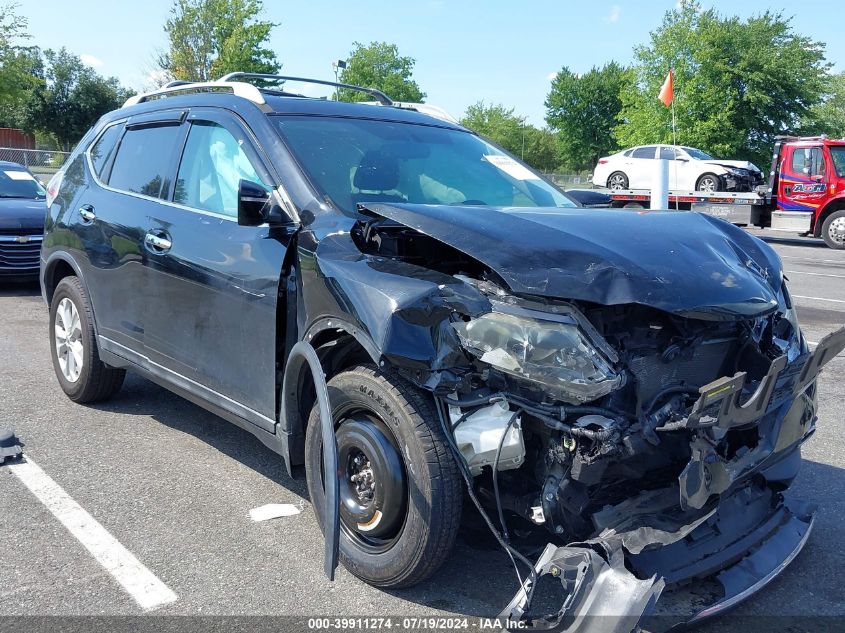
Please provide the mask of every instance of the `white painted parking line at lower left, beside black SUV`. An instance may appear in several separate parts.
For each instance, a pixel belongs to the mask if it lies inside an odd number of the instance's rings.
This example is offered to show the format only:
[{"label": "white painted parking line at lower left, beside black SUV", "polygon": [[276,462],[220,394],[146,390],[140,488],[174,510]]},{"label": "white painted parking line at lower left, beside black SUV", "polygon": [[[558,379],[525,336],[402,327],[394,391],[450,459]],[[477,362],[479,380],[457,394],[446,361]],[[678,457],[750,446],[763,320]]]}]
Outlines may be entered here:
[{"label": "white painted parking line at lower left, beside black SUV", "polygon": [[177,596],[74,501],[29,457],[9,465],[23,485],[85,546],[145,611],[175,602]]}]

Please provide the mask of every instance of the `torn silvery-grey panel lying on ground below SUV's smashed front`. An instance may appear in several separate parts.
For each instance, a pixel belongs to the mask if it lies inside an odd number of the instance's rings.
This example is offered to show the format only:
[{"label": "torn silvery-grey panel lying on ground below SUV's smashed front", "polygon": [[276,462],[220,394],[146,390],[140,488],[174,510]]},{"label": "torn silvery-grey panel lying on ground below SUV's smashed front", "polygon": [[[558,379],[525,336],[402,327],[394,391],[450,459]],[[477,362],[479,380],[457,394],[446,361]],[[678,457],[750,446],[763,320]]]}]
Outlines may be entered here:
[{"label": "torn silvery-grey panel lying on ground below SUV's smashed front", "polygon": [[535,565],[537,577],[560,579],[565,598],[554,614],[531,617],[531,580],[499,615],[509,630],[565,631],[567,633],[629,633],[654,608],[663,580],[640,580],[625,569],[622,551],[606,560],[588,544],[555,547],[549,543]]}]

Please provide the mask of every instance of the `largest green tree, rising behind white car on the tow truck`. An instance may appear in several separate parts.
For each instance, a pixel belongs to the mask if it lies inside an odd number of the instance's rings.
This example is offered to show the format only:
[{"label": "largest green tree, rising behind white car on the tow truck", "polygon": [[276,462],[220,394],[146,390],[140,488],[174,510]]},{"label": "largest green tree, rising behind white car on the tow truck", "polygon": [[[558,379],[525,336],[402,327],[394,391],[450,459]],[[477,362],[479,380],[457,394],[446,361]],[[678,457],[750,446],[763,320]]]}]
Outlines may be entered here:
[{"label": "largest green tree, rising behind white car on the tow truck", "polygon": [[747,20],[682,0],[635,49],[636,82],[623,91],[623,146],[672,141],[671,112],[657,100],[674,70],[678,142],[764,164],[776,134],[795,131],[824,92],[824,46],[781,13]]}]

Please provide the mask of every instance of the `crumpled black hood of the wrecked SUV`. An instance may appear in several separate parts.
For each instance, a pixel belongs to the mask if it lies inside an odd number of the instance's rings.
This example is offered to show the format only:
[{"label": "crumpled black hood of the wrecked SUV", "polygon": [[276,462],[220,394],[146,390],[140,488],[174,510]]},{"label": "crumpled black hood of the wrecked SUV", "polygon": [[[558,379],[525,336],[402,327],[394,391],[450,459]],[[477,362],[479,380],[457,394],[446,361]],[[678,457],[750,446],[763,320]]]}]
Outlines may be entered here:
[{"label": "crumpled black hood of the wrecked SUV", "polygon": [[374,214],[479,260],[520,295],[639,303],[736,319],[777,305],[780,260],[764,242],[691,212],[368,204]]}]

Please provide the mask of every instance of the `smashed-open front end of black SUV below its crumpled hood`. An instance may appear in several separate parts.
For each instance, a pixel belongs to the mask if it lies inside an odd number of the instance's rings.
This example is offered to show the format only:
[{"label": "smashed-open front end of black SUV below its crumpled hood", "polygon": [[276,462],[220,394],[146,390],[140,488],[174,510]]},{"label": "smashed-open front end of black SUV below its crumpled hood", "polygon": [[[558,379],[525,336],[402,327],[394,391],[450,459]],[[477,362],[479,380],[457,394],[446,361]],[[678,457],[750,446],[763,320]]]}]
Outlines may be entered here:
[{"label": "smashed-open front end of black SUV below its crumpled hood", "polygon": [[[718,604],[730,606],[768,582],[746,573],[731,584],[731,570],[754,562],[749,543],[734,551],[743,538],[787,558],[803,546],[812,509],[790,510],[781,493],[814,430],[815,377],[845,347],[845,330],[811,354],[784,284],[776,305],[678,314],[517,294],[479,260],[383,218],[359,223],[353,239],[364,253],[451,275],[490,302],[483,314],[452,314],[468,362],[439,398],[444,430],[505,540],[508,524],[522,522],[552,541],[503,617],[548,628],[602,613],[602,584],[628,586],[629,606],[646,613],[664,586],[725,569]],[[694,551],[693,537],[728,524],[735,541]],[[798,536],[778,537],[774,524],[797,526]],[[557,615],[529,618],[542,574],[560,577],[570,597]]]}]

